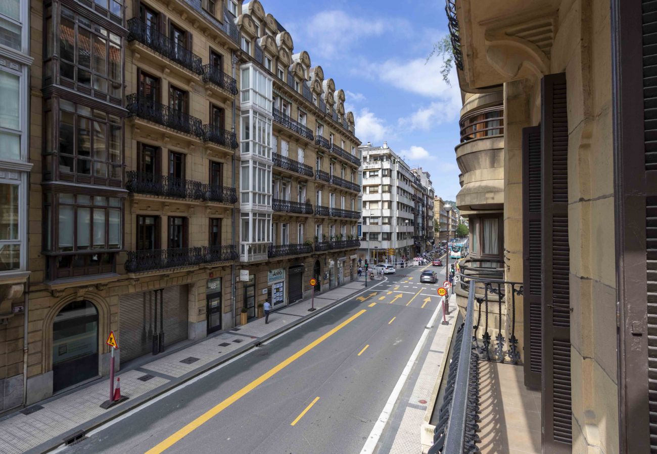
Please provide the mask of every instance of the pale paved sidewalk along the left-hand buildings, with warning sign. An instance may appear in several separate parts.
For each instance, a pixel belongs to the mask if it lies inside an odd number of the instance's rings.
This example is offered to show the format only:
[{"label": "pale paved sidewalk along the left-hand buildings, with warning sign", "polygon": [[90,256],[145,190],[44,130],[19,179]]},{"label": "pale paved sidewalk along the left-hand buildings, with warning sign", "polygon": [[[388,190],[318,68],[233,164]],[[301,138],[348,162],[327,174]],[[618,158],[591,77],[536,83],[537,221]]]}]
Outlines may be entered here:
[{"label": "pale paved sidewalk along the left-hand buildings, with warning sign", "polygon": [[[368,283],[367,289],[384,281]],[[250,350],[256,344],[317,316],[323,310],[349,299],[363,289],[365,279],[351,281],[317,295],[315,312],[308,312],[310,299],[301,300],[272,312],[267,325],[265,319],[260,318],[156,356],[139,367],[123,369],[117,375],[121,377],[122,395],[129,399],[110,409],[99,407],[109,394],[109,379],[103,378],[12,413],[0,421],[0,453],[43,452],[55,449],[72,434],[80,430],[88,432],[215,365]]]}]

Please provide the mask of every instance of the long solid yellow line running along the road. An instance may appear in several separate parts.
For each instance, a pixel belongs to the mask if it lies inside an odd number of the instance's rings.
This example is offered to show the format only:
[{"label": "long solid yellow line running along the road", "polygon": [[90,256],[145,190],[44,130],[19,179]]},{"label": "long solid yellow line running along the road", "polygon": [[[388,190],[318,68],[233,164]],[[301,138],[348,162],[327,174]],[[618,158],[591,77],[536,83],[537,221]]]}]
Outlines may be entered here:
[{"label": "long solid yellow line running along the road", "polygon": [[[376,293],[374,293],[374,295],[376,295]],[[155,445],[151,449],[148,449],[146,454],[159,454],[159,453],[162,453],[162,451],[170,448],[176,442],[179,442],[180,440],[182,440],[183,437],[185,437],[185,436],[189,435],[191,432],[193,432],[193,430],[200,427],[202,424],[207,423],[208,421],[210,421],[210,419],[212,419],[212,417],[215,417],[216,415],[221,413],[221,411],[227,409],[233,403],[240,400],[240,398],[244,397],[246,394],[248,394],[248,392],[254,390],[258,385],[264,383],[265,381],[267,381],[268,379],[270,379],[271,377],[273,377],[274,375],[279,373],[281,370],[284,369],[284,367],[286,367],[286,366],[290,365],[292,362],[298,360],[299,358],[304,356],[304,354],[306,354],[307,352],[309,352],[310,350],[312,350],[313,348],[315,348],[316,346],[318,346],[319,344],[321,344],[322,342],[327,340],[329,337],[331,337],[332,335],[334,335],[335,333],[340,331],[340,329],[346,327],[346,325],[348,325],[352,321],[356,320],[361,315],[365,314],[365,312],[367,312],[367,310],[362,309],[359,312],[357,312],[356,314],[353,314],[353,316],[351,316],[347,320],[340,323],[340,325],[338,325],[338,326],[334,327],[333,329],[331,329],[330,331],[328,331],[328,333],[325,333],[324,335],[322,335],[322,336],[318,337],[317,339],[313,340],[313,342],[310,342],[304,348],[302,348],[301,350],[299,350],[298,352],[296,352],[295,354],[293,354],[292,356],[290,356],[286,360],[283,360],[282,362],[278,363],[277,365],[275,365],[274,367],[269,369],[269,371],[263,373],[263,375],[260,375],[260,377],[258,377],[254,381],[252,381],[249,384],[247,384],[246,386],[244,386],[244,388],[242,388],[239,391],[235,392],[235,394],[233,394],[229,398],[223,400],[223,402],[215,405],[210,410],[206,411],[205,413],[200,415],[198,418],[194,419],[194,421],[192,421],[191,423],[187,424],[186,426],[184,426],[180,430],[177,430],[177,432],[171,434],[170,436],[168,436],[168,438],[166,438],[165,440],[163,440],[159,444]]]}]

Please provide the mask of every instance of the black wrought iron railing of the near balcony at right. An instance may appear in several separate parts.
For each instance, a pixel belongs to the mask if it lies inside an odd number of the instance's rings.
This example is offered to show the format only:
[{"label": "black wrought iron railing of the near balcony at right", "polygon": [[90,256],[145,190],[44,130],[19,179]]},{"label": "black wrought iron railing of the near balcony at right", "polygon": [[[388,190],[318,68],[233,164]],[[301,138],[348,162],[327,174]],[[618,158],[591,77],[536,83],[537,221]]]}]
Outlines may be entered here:
[{"label": "black wrought iron railing of the near balcony at right", "polygon": [[[461,288],[468,291],[465,320],[454,339],[454,354],[449,365],[443,402],[438,411],[434,444],[428,450],[430,454],[478,451],[479,361],[510,361],[517,364],[520,360],[518,340],[515,337],[515,310],[516,295],[522,295],[523,292],[522,284],[486,277],[486,274],[498,274],[497,268],[488,268],[489,271],[483,266],[462,268],[467,273],[459,275]],[[510,295],[507,291],[510,291]],[[509,296],[510,304],[507,300]],[[489,305],[497,306],[491,311],[495,313],[489,314]],[[505,329],[509,338],[505,339],[502,329],[495,329],[498,333],[493,345],[493,329],[489,333],[488,327],[489,317],[498,316],[498,328],[503,327],[503,306],[509,307],[511,311],[511,324]],[[483,329],[480,325],[482,318]],[[508,345],[506,350],[505,343]]]}]

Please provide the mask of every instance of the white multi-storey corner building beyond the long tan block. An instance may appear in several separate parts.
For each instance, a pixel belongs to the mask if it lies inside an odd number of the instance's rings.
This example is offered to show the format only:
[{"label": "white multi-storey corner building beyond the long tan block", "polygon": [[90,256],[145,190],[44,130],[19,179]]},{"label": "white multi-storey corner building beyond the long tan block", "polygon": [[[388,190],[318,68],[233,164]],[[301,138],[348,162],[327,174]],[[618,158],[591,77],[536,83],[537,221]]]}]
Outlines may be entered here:
[{"label": "white multi-storey corner building beyond the long tan block", "polygon": [[363,153],[363,237],[359,255],[371,263],[413,257],[415,202],[411,168],[390,148],[359,147]]}]

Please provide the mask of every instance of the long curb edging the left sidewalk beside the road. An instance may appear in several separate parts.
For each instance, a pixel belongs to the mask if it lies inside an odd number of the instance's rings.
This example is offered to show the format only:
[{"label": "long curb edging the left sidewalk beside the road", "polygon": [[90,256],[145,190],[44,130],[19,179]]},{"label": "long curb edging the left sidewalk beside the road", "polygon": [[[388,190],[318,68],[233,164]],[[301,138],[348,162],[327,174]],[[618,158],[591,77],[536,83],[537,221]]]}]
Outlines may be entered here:
[{"label": "long curb edging the left sidewalk beside the road", "polygon": [[352,299],[356,295],[359,295],[360,293],[363,293],[365,291],[369,291],[370,289],[373,289],[377,285],[380,285],[384,282],[388,281],[388,278],[384,278],[382,281],[379,281],[378,283],[375,283],[374,285],[371,285],[370,287],[365,287],[362,290],[356,291],[354,293],[351,293],[351,295],[348,295],[342,299],[335,300],[334,302],[327,304],[327,306],[324,306],[323,308],[319,308],[315,310],[314,312],[310,312],[309,314],[306,314],[305,316],[298,318],[291,323],[288,323],[287,325],[280,327],[279,329],[275,329],[271,333],[265,334],[262,337],[259,337],[258,339],[251,340],[247,344],[244,344],[243,346],[240,346],[237,348],[237,350],[233,350],[233,352],[230,352],[226,356],[222,356],[221,358],[217,358],[214,361],[210,361],[209,363],[206,363],[204,366],[199,367],[198,369],[195,369],[194,371],[190,371],[186,373],[185,375],[182,375],[176,381],[170,381],[167,384],[163,384],[162,386],[159,386],[158,388],[155,388],[154,390],[150,390],[146,394],[143,394],[139,396],[138,398],[135,398],[134,400],[128,400],[125,405],[122,405],[121,407],[118,407],[114,411],[110,411],[109,413],[106,413],[105,415],[100,415],[97,416],[93,419],[90,419],[87,421],[87,423],[79,424],[78,426],[67,430],[66,432],[63,432],[62,434],[58,435],[57,438],[51,438],[47,442],[43,442],[42,444],[36,445],[32,449],[29,449],[26,451],[26,453],[32,454],[32,453],[47,453],[50,451],[54,451],[55,449],[58,449],[62,445],[66,443],[66,440],[72,438],[73,436],[84,436],[87,434],[87,432],[90,432],[91,430],[98,428],[99,426],[102,426],[102,424],[108,423],[109,421],[112,421],[113,419],[116,419],[125,413],[139,407],[139,405],[142,405],[145,402],[148,402],[149,400],[152,400],[166,392],[169,392],[176,388],[177,386],[190,381],[191,379],[194,379],[194,377],[198,377],[198,375],[201,375],[203,373],[206,373],[210,369],[213,369],[217,365],[220,365],[222,363],[225,363],[227,361],[233,360],[233,358],[236,358],[237,356],[240,356],[241,354],[248,352],[248,350],[251,350],[252,348],[255,348],[257,346],[260,346],[263,342],[267,342],[267,340],[271,340],[286,331],[289,331],[290,329],[305,323],[306,321],[310,320],[313,317],[318,316],[319,314],[323,314],[323,312],[326,312],[330,308],[334,308],[335,306],[338,306],[338,304],[342,304],[346,300]]}]

